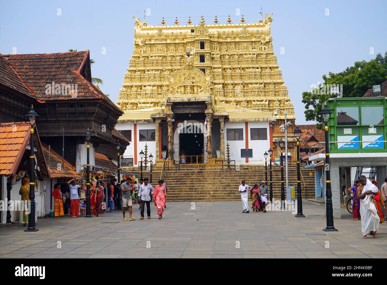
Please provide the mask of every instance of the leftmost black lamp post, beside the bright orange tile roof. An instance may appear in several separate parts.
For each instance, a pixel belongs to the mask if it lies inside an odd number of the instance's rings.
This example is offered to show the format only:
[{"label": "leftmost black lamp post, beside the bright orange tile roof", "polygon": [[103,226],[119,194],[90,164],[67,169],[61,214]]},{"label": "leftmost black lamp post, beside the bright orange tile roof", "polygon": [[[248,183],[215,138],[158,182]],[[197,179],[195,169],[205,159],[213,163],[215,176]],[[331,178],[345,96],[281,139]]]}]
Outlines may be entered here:
[{"label": "leftmost black lamp post, beside the bright orange tile roof", "polygon": [[[28,215],[28,227],[24,231],[38,231],[35,227],[35,179],[34,179],[34,168],[35,168],[35,157],[34,157],[34,121],[36,117],[39,117],[36,114],[33,105],[31,105],[31,110],[29,110],[26,115],[29,124],[31,126],[30,134],[30,151],[29,151],[29,166],[30,166],[30,180],[29,180],[29,202],[30,202],[30,213]],[[34,122],[34,123],[33,123]]]}]

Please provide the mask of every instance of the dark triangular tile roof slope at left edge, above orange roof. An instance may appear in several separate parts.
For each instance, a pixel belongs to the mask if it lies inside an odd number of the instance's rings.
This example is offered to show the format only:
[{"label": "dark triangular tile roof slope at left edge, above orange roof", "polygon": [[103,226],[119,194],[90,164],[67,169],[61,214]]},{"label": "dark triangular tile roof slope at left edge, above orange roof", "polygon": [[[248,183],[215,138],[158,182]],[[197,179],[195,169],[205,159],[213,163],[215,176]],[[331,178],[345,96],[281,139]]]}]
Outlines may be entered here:
[{"label": "dark triangular tile roof slope at left edge, above orange roof", "polygon": [[6,62],[0,54],[0,84],[16,90],[28,97],[36,99],[35,95],[27,88],[16,71]]}]

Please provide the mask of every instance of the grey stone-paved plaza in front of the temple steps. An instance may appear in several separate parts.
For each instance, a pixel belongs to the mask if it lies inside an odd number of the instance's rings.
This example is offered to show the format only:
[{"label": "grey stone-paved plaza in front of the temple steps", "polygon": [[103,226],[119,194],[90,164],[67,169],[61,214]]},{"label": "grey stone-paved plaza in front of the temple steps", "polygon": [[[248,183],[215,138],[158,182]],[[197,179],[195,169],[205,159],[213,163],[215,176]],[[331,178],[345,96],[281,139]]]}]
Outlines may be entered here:
[{"label": "grey stone-paved plaza in front of the temple steps", "polygon": [[169,202],[163,219],[152,205],[152,219],[140,220],[134,204],[135,221],[123,221],[121,211],[114,211],[91,219],[39,219],[37,232],[24,232],[21,224],[0,226],[0,258],[387,256],[386,224],[380,226],[377,239],[364,240],[360,221],[352,221],[344,208],[343,218],[334,220],[339,231],[327,233],[322,231],[324,205],[304,202],[303,212],[306,218],[287,211],[242,214],[241,202],[196,202],[195,210],[191,202]]}]

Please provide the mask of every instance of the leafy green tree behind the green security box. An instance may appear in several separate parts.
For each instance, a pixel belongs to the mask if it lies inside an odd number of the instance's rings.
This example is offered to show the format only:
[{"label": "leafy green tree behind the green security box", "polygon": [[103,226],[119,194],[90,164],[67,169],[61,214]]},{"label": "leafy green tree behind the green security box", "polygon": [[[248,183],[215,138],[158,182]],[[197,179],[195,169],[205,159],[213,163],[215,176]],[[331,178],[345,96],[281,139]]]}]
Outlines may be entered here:
[{"label": "leafy green tree behind the green security box", "polygon": [[347,67],[339,73],[330,72],[322,76],[324,83],[309,92],[302,92],[302,102],[305,104],[305,118],[307,121],[321,121],[319,115],[324,102],[334,97],[326,86],[342,84],[342,97],[362,97],[372,88],[387,80],[387,52],[384,56],[377,54],[370,61],[356,61],[353,66]]}]

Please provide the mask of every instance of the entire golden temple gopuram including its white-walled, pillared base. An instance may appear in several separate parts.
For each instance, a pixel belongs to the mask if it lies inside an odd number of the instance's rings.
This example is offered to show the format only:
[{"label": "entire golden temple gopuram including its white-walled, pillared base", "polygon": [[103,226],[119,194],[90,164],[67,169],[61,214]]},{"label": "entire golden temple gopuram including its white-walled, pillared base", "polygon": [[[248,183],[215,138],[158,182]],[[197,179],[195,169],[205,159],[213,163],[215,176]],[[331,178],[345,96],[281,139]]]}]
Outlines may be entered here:
[{"label": "entire golden temple gopuram including its white-walled, pillared base", "polygon": [[[236,161],[243,163],[260,162],[260,152],[269,147],[278,154],[284,113],[291,123],[296,117],[273,51],[272,17],[244,21],[242,16],[235,24],[229,17],[219,24],[215,18],[206,24],[201,17],[198,24],[189,19],[182,25],[176,18],[174,25],[165,25],[163,18],[154,26],[135,18],[134,50],[117,100],[125,114],[116,128],[135,134],[138,142],[125,155],[137,161],[145,142],[157,159],[166,155],[178,160],[187,148],[189,155],[224,159],[228,142]],[[204,139],[195,140],[196,149],[176,131],[184,121],[208,129]],[[289,126],[288,133],[293,128]],[[289,138],[291,153],[294,143]],[[243,149],[252,146],[254,154],[243,156]]]}]

